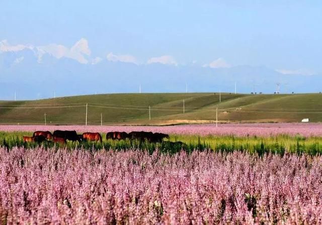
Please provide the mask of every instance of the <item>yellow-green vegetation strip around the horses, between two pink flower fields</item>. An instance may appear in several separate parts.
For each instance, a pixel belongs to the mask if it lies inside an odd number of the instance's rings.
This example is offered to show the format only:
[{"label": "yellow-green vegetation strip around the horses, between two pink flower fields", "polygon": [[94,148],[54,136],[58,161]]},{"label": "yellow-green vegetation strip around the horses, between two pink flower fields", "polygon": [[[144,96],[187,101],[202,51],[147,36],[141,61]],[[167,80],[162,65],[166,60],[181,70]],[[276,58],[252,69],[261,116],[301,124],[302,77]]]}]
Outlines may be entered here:
[{"label": "yellow-green vegetation strip around the horses, between two pink flower fields", "polygon": [[[31,132],[0,132],[0,145],[13,149],[14,147],[36,148],[38,143],[24,143],[23,136],[32,136]],[[286,153],[320,155],[322,153],[322,137],[305,138],[302,136],[279,135],[274,137],[235,137],[235,136],[206,136],[199,137],[195,135],[172,135],[170,141],[162,143],[140,142],[137,140],[106,140],[105,134],[102,134],[103,142],[71,142],[61,145],[53,142],[43,142],[43,148],[83,148],[91,151],[106,150],[126,150],[140,149],[147,150],[151,154],[158,149],[161,152],[170,154],[177,153],[181,150],[188,153],[193,150],[211,150],[215,152],[249,152],[253,154],[264,155],[266,153],[284,155]],[[174,144],[176,142],[176,144]],[[184,144],[181,144],[182,142]]]}]

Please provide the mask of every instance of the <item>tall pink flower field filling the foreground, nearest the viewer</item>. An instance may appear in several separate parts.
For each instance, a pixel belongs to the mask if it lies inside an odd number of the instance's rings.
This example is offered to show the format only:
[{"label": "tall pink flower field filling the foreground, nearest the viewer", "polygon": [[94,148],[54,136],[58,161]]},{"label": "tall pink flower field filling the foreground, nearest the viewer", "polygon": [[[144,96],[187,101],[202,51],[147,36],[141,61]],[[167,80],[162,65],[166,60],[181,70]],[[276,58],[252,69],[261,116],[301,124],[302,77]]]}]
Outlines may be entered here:
[{"label": "tall pink flower field filling the foreground, nearest the viewer", "polygon": [[2,224],[320,224],[322,158],[0,148]]}]

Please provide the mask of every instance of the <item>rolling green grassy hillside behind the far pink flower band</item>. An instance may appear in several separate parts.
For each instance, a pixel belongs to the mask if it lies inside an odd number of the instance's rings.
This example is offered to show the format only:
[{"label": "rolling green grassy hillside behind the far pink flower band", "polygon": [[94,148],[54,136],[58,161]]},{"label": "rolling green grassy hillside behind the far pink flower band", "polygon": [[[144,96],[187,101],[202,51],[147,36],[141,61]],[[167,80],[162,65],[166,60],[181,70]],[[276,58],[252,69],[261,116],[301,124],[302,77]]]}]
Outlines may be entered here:
[{"label": "rolling green grassy hillside behind the far pink flower band", "polygon": [[[185,114],[183,114],[183,99]],[[180,124],[322,121],[322,94],[141,93],[98,94],[33,101],[0,101],[1,124]],[[151,108],[149,120],[149,106]]]}]

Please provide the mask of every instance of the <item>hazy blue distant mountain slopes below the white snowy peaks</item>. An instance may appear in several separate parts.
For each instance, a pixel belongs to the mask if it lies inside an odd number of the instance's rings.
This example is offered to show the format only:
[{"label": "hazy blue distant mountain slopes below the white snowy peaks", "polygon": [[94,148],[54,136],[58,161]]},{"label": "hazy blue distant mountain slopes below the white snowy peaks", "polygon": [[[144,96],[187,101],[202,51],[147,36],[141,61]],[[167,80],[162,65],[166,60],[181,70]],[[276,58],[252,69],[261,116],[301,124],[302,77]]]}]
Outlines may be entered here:
[{"label": "hazy blue distant mountain slopes below the white snowy peaks", "polygon": [[[83,57],[83,56],[82,56]],[[84,56],[87,57],[87,56]],[[82,58],[82,60],[84,60]],[[86,59],[87,60],[87,59]],[[322,75],[282,74],[264,66],[134,64],[103,59],[96,64],[24,48],[0,51],[0,99],[37,99],[94,93],[322,91]],[[93,61],[94,62],[94,61]]]}]

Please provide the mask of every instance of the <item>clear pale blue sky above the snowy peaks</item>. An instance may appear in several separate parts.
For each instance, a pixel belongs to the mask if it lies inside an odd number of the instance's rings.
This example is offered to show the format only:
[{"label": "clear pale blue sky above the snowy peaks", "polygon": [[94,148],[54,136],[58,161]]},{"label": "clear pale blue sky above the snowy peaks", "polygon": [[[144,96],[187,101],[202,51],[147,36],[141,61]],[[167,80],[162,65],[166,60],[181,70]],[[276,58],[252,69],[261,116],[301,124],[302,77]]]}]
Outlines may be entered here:
[{"label": "clear pale blue sky above the snowy peaks", "polygon": [[0,40],[321,73],[321,1],[2,1]]}]

